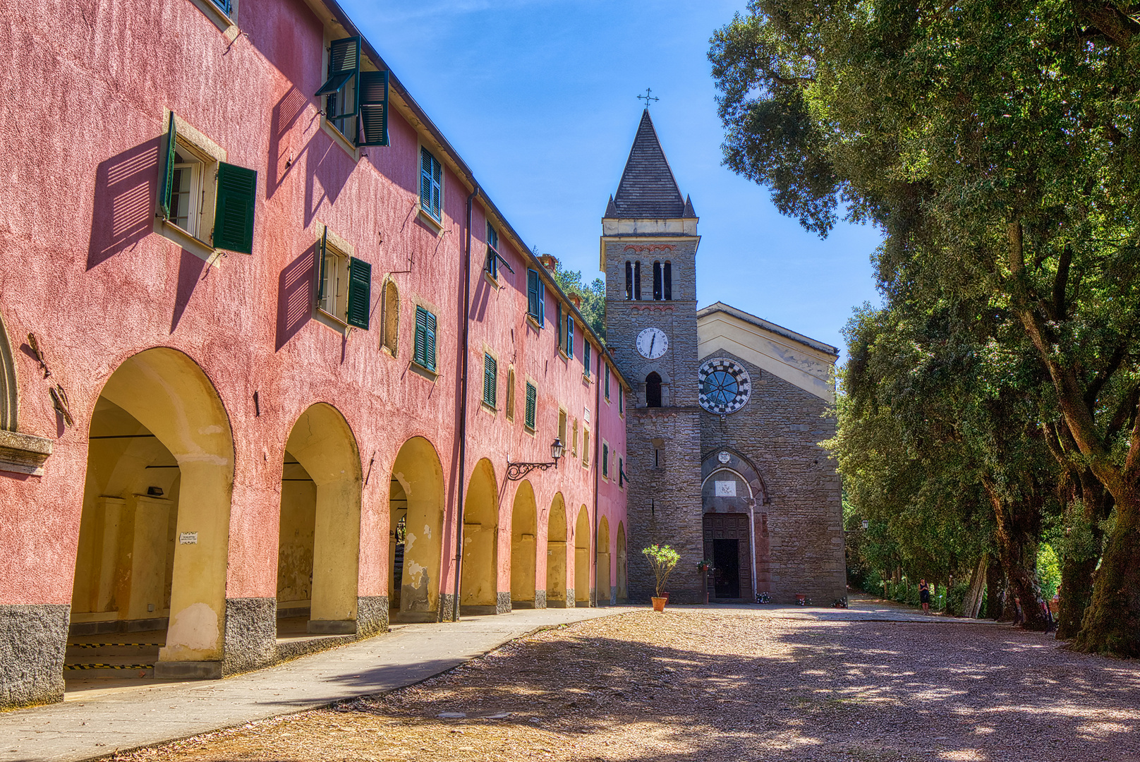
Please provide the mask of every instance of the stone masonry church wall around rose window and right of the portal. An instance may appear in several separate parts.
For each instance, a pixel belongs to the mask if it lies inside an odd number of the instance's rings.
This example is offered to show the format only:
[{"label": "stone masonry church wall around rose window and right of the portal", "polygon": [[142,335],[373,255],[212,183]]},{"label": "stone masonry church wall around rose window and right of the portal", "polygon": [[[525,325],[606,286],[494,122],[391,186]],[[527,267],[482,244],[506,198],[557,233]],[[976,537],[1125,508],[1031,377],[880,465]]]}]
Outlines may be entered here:
[{"label": "stone masonry church wall around rose window and right of the portal", "polygon": [[[819,441],[833,437],[836,420],[824,418],[828,405],[819,397],[744,362],[752,396],[743,408],[722,418],[703,410],[702,455],[732,447],[760,472],[771,503],[757,501],[767,513],[773,602],[795,602],[806,594],[826,606],[846,595],[842,504],[834,462]],[[709,358],[705,358],[709,359]]]}]

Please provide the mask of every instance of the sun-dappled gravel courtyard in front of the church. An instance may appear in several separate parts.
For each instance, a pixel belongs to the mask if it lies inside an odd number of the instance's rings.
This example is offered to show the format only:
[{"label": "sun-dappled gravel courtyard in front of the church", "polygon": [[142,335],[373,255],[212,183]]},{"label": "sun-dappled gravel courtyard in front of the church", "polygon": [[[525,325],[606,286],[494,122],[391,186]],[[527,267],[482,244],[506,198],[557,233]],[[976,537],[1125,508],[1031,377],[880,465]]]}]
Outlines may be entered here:
[{"label": "sun-dappled gravel courtyard in front of the church", "polygon": [[1009,626],[632,611],[114,759],[1140,761],[1140,663]]}]

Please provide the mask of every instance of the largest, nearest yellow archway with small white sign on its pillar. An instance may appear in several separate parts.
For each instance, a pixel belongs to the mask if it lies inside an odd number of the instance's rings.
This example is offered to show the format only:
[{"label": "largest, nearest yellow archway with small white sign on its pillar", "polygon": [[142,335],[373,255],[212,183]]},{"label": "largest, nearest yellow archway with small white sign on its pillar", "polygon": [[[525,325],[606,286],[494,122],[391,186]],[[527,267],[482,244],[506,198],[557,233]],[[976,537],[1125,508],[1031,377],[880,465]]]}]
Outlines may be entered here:
[{"label": "largest, nearest yellow archway with small white sign on its pillar", "polygon": [[229,419],[202,368],[168,348],[123,362],[91,416],[65,676],[187,662],[221,676],[233,485]]}]

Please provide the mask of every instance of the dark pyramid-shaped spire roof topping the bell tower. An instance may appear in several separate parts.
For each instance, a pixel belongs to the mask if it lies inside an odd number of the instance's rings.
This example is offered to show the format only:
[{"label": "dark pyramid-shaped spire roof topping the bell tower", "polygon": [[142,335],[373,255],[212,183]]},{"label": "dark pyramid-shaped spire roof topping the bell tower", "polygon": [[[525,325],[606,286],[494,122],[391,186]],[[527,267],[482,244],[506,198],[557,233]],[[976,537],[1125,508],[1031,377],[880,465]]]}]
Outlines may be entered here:
[{"label": "dark pyramid-shaped spire roof topping the bell tower", "polygon": [[618,192],[608,205],[605,216],[611,219],[676,219],[686,217],[686,211],[692,211],[692,203],[686,204],[681,196],[677,180],[673,177],[669,161],[665,157],[646,108],[642,112],[637,137],[629,149]]}]

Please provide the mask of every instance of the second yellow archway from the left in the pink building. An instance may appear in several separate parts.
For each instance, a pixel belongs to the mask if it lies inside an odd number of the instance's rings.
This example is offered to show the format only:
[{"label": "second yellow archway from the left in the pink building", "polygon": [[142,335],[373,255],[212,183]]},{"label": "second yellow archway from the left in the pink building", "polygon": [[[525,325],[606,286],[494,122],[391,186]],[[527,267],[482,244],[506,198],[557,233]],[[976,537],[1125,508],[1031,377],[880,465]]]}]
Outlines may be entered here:
[{"label": "second yellow archway from the left in the pink building", "polygon": [[285,443],[277,544],[279,634],[357,631],[360,454],[332,405],[309,407]]}]

